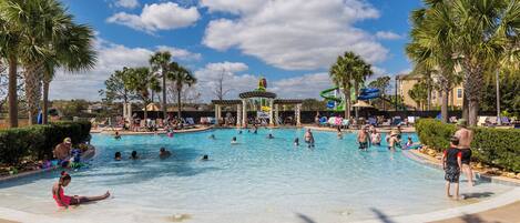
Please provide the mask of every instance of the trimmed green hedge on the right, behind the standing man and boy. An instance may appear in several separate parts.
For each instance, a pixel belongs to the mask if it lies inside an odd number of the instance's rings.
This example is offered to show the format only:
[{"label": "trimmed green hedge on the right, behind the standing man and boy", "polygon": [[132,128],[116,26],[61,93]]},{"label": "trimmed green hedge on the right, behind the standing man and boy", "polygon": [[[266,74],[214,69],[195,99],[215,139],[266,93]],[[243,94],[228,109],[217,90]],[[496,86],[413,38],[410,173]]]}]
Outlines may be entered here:
[{"label": "trimmed green hedge on the right, behind the standing man and boy", "polygon": [[[457,128],[443,124],[438,120],[421,119],[416,124],[419,140],[422,144],[441,151],[449,145],[449,138]],[[473,159],[482,163],[520,172],[520,130],[471,128],[473,141],[471,149]]]}]

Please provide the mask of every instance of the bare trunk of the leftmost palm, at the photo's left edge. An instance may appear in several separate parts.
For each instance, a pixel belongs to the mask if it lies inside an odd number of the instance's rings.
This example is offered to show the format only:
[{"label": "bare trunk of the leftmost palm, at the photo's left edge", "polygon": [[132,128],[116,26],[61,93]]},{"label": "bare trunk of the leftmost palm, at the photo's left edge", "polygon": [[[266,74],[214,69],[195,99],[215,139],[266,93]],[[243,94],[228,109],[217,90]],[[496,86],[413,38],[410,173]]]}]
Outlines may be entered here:
[{"label": "bare trunk of the leftmost palm, at the photo's left edge", "polygon": [[9,126],[18,128],[18,60],[9,58]]}]

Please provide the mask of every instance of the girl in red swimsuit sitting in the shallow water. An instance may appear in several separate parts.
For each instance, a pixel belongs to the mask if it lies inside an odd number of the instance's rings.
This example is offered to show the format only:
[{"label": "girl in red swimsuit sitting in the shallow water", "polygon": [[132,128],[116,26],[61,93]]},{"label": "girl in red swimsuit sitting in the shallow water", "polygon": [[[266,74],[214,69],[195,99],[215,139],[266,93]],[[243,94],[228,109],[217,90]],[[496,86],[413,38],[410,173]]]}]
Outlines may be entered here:
[{"label": "girl in red swimsuit sitting in the shallow water", "polygon": [[58,206],[61,207],[69,207],[69,205],[79,205],[81,203],[92,202],[92,201],[101,201],[108,199],[110,193],[106,191],[105,194],[100,196],[68,196],[64,194],[63,187],[68,186],[71,182],[71,176],[65,171],[61,172],[60,180],[58,183],[52,186],[52,197],[54,199]]}]

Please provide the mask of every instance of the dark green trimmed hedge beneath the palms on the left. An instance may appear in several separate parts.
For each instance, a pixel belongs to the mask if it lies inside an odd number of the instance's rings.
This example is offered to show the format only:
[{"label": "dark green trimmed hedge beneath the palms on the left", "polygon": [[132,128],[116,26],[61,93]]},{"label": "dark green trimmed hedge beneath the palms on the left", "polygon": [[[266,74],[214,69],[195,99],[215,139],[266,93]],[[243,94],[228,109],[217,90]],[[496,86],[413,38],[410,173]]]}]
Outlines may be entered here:
[{"label": "dark green trimmed hedge beneath the palms on the left", "polygon": [[71,138],[73,144],[84,142],[90,136],[90,122],[54,122],[0,130],[0,163],[17,164],[21,159],[52,158],[54,146]]}]

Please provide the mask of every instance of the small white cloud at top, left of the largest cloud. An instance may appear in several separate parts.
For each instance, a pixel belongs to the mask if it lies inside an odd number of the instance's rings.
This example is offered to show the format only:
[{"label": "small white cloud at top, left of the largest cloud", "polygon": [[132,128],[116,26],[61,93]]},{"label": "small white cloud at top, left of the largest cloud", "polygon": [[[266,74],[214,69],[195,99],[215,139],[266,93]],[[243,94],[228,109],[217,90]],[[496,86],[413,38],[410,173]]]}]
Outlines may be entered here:
[{"label": "small white cloud at top, left of the largest cloud", "polygon": [[177,3],[164,2],[145,4],[139,16],[119,12],[108,18],[106,21],[153,33],[157,30],[174,30],[192,26],[200,18],[196,7],[183,8]]}]

